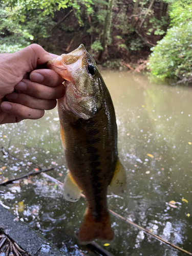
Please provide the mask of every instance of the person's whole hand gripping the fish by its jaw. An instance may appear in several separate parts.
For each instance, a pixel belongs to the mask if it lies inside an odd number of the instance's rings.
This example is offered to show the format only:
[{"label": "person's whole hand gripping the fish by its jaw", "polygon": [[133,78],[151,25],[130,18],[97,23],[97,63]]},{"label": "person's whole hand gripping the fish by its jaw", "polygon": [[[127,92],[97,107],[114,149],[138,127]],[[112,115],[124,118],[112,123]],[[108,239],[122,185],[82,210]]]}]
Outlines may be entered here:
[{"label": "person's whole hand gripping the fish by its jaw", "polygon": [[52,57],[35,44],[16,53],[0,54],[0,124],[41,118],[64,96],[63,78],[53,70],[35,70]]}]

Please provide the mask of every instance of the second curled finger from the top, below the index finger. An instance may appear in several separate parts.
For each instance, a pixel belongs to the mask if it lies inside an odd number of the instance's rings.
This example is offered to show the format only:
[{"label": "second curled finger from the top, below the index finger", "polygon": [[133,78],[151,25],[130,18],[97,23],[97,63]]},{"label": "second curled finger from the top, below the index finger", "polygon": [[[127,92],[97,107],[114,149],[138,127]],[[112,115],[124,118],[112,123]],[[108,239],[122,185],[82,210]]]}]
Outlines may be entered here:
[{"label": "second curled finger from the top, below the index finger", "polygon": [[60,99],[65,95],[65,86],[48,87],[43,84],[23,79],[16,84],[15,90],[39,99]]}]

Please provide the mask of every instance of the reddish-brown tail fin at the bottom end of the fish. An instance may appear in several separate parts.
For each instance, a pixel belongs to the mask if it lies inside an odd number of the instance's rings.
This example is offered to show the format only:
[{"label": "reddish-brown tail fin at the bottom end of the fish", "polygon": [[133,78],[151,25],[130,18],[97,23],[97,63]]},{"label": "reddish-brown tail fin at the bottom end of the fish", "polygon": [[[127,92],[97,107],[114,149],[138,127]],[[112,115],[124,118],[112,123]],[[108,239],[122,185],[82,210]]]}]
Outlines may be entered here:
[{"label": "reddish-brown tail fin at the bottom end of the fish", "polygon": [[77,234],[77,241],[79,244],[89,244],[95,239],[101,241],[111,241],[113,239],[114,232],[111,228],[110,215],[108,211],[105,211],[100,219],[93,216],[93,213],[89,208],[86,210],[83,223]]}]

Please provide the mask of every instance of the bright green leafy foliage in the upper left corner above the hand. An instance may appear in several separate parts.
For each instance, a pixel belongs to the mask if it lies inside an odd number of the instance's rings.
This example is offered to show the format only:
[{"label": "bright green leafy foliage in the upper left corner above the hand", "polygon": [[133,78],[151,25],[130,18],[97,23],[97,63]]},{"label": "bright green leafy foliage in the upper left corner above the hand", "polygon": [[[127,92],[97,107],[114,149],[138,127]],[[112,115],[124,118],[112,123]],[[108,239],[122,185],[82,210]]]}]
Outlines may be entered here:
[{"label": "bright green leafy foliage in the upper left corner above the hand", "polygon": [[2,0],[0,1],[0,52],[14,52],[39,38],[49,37],[54,12],[73,8],[82,26],[80,7],[91,10],[92,0]]}]

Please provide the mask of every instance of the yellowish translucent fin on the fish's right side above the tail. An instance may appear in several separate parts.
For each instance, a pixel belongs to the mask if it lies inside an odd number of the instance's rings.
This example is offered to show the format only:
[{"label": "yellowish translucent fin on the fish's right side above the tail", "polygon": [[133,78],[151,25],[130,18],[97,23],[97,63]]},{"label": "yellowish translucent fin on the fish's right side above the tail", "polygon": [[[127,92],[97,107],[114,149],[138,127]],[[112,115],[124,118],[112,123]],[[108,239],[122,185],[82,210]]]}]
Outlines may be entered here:
[{"label": "yellowish translucent fin on the fish's right side above the tail", "polygon": [[113,175],[113,179],[108,187],[108,192],[113,192],[114,194],[120,194],[126,184],[126,173],[124,167],[122,166],[119,158],[117,160],[116,169]]}]

